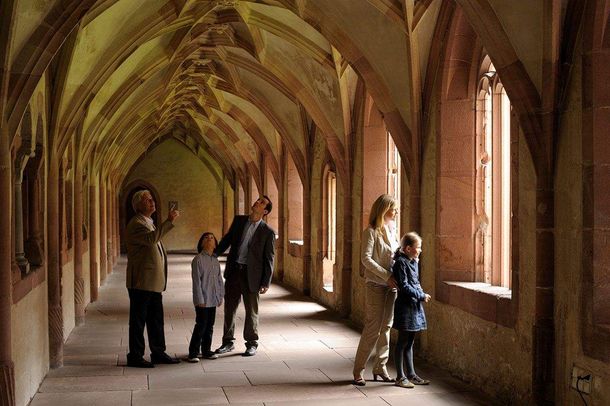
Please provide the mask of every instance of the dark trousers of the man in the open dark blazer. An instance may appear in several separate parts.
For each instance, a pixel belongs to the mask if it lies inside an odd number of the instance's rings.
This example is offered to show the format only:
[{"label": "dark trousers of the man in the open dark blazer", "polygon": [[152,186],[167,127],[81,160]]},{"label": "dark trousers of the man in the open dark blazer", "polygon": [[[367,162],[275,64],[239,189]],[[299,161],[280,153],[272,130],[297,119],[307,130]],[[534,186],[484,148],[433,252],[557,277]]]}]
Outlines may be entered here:
[{"label": "dark trousers of the man in the open dark blazer", "polygon": [[246,319],[244,320],[244,340],[246,347],[258,347],[258,292],[248,288],[247,268],[232,269],[225,280],[225,322],[222,343],[235,341],[235,313],[244,298]]}]

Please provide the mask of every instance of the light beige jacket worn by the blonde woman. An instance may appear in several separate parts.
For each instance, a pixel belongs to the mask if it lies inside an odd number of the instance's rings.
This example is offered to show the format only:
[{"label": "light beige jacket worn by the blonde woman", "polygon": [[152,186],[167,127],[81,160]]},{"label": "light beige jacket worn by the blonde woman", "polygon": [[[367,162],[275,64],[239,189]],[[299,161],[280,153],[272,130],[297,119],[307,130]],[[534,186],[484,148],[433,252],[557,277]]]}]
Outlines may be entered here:
[{"label": "light beige jacket worn by the blonde woman", "polygon": [[362,233],[361,261],[364,265],[367,282],[387,285],[392,276],[392,256],[398,248],[396,237],[387,228],[378,232],[367,227]]}]

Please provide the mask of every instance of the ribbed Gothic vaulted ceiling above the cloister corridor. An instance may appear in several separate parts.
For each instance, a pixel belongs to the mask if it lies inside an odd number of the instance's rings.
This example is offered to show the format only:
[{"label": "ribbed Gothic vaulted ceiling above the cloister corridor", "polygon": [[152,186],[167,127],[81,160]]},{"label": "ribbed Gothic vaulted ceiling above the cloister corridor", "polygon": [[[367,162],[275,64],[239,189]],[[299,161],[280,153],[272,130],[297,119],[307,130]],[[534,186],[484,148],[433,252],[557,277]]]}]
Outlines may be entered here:
[{"label": "ribbed Gothic vaulted ceiling above the cloister corridor", "polygon": [[[396,135],[407,167],[417,159],[441,0],[11,3],[9,123],[23,115],[37,78],[52,72],[55,148],[65,149],[76,135],[83,159],[94,156],[97,166],[122,176],[168,135],[212,156],[230,177],[250,173],[259,182],[268,165],[278,180],[282,149],[305,176],[312,123],[337,170],[348,173],[359,80]],[[468,14],[480,2],[459,3]],[[504,30],[516,33],[515,53],[539,86],[542,34],[537,41],[517,35],[505,9],[514,2],[484,3]],[[520,3],[524,10],[514,14],[534,26],[541,2]]]}]

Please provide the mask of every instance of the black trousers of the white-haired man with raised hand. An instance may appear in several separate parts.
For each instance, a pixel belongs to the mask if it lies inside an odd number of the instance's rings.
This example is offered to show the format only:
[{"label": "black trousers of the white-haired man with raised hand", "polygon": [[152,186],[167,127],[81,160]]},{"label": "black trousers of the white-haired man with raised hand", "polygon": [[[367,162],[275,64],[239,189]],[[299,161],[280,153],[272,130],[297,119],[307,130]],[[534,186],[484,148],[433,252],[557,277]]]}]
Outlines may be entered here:
[{"label": "black trousers of the white-haired man with raised hand", "polygon": [[148,345],[153,356],[165,354],[163,330],[163,301],[161,293],[140,289],[129,292],[129,353],[128,361],[144,356],[144,326],[148,332]]}]

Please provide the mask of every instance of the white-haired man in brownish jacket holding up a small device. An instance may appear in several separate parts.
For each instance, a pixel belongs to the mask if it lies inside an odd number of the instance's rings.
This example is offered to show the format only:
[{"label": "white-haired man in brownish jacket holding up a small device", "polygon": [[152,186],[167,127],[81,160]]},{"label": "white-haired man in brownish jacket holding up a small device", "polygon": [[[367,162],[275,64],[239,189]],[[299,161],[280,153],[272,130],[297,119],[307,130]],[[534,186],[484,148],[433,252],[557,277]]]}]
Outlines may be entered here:
[{"label": "white-haired man in brownish jacket holding up a small device", "polygon": [[[136,215],[125,232],[127,244],[127,291],[129,292],[129,353],[127,366],[153,368],[154,364],[180,361],[165,352],[162,295],[167,285],[167,255],[161,237],[174,227],[177,210],[171,209],[158,228],[151,215],[155,201],[148,190],[140,190],[131,200]],[[150,360],[144,359],[144,327],[148,331]]]}]

